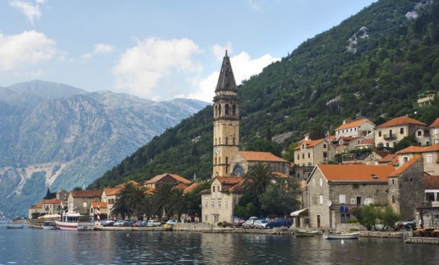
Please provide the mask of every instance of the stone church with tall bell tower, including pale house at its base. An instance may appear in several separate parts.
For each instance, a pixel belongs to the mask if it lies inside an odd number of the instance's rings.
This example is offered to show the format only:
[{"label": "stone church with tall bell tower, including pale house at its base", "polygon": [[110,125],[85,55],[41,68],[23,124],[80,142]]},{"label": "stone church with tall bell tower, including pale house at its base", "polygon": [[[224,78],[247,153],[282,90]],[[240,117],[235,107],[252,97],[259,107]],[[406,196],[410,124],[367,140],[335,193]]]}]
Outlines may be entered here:
[{"label": "stone church with tall bell tower, including pale house at its base", "polygon": [[268,152],[239,151],[238,87],[226,54],[213,98],[212,184],[201,194],[203,223],[232,223],[234,206],[244,193],[243,175],[251,165],[269,164],[275,175],[289,177],[290,162]]}]

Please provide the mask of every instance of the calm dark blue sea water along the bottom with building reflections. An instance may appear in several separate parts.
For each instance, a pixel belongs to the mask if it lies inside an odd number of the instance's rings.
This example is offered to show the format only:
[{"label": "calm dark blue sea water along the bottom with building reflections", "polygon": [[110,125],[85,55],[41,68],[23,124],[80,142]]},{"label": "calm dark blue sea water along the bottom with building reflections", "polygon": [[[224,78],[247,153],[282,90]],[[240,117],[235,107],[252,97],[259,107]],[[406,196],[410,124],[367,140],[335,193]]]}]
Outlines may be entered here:
[{"label": "calm dark blue sea water along the bottom with building reflections", "polygon": [[439,246],[401,239],[6,229],[0,264],[438,264]]}]

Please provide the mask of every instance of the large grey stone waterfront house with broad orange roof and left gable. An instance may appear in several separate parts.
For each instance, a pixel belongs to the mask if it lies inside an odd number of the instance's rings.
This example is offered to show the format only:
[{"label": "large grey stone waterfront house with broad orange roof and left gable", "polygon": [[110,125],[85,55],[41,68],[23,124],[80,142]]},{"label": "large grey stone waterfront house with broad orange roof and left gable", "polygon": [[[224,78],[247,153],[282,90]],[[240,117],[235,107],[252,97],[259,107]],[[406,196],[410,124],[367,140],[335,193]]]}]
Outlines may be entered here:
[{"label": "large grey stone waterfront house with broad orange roof and left gable", "polygon": [[352,208],[387,203],[392,172],[392,165],[317,165],[307,179],[309,225],[335,228],[353,218]]}]

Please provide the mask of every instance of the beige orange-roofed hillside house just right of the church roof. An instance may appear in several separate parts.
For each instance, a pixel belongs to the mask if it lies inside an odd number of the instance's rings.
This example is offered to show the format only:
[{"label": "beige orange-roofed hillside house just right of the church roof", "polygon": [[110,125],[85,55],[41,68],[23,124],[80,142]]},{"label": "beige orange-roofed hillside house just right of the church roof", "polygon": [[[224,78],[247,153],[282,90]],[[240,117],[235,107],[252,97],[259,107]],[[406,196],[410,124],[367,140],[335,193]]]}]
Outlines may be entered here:
[{"label": "beige orange-roofed hillside house just right of the church roof", "polygon": [[319,163],[327,163],[333,160],[336,146],[326,139],[307,140],[303,139],[294,149],[294,163],[300,166],[314,166]]}]

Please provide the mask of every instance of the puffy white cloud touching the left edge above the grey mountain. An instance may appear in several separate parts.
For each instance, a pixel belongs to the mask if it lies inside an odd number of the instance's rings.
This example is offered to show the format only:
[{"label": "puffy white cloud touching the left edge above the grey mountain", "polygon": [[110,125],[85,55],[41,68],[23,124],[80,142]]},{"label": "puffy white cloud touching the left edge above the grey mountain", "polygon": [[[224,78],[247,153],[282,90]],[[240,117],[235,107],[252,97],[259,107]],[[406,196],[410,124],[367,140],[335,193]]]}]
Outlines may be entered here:
[{"label": "puffy white cloud touching the left edge above the grey mountain", "polygon": [[23,69],[55,57],[55,41],[35,30],[18,35],[0,33],[0,71]]}]

